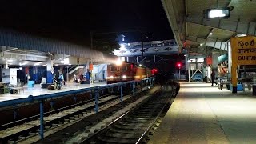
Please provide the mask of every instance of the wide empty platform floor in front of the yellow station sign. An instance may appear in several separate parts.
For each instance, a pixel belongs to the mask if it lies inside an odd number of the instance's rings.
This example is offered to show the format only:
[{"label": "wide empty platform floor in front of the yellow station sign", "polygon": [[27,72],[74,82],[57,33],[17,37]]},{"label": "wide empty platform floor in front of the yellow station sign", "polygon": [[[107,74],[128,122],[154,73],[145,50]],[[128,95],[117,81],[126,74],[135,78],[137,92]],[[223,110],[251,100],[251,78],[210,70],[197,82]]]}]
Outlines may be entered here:
[{"label": "wide empty platform floor in front of the yellow station sign", "polygon": [[256,143],[256,97],[210,83],[181,89],[149,143]]}]

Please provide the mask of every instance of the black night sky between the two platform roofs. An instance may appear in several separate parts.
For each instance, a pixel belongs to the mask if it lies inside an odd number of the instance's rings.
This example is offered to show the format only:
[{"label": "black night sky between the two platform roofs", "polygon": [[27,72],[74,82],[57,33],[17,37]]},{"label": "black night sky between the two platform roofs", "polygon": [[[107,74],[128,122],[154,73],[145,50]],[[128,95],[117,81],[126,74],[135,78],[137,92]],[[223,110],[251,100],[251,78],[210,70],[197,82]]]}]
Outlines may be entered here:
[{"label": "black night sky between the two platform roofs", "polygon": [[[1,0],[0,25],[14,30],[86,44],[95,37],[126,35],[128,42],[173,38],[160,0]],[[124,32],[126,31],[126,32]],[[116,32],[116,33],[113,33]]]}]

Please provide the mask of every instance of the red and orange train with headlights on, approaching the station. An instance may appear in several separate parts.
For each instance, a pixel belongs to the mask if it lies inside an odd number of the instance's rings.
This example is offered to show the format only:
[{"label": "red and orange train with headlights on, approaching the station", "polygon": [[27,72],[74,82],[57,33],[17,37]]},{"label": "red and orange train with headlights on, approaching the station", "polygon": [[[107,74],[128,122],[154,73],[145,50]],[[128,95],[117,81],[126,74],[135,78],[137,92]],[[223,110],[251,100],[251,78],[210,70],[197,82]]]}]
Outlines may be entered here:
[{"label": "red and orange train with headlights on, approaching the station", "polygon": [[107,66],[106,83],[127,82],[149,78],[155,70],[130,62],[117,62]]}]

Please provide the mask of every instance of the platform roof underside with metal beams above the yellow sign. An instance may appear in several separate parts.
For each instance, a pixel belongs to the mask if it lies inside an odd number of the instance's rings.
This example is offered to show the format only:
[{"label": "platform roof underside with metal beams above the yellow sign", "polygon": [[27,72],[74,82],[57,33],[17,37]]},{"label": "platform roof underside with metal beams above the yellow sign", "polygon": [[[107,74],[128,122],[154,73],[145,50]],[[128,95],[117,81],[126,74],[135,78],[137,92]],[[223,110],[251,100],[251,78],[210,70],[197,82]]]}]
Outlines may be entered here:
[{"label": "platform roof underside with metal beams above the yellow sign", "polygon": [[[179,49],[225,53],[231,37],[255,35],[255,1],[162,0],[162,6]],[[229,17],[207,18],[207,11],[217,9],[229,10]]]}]

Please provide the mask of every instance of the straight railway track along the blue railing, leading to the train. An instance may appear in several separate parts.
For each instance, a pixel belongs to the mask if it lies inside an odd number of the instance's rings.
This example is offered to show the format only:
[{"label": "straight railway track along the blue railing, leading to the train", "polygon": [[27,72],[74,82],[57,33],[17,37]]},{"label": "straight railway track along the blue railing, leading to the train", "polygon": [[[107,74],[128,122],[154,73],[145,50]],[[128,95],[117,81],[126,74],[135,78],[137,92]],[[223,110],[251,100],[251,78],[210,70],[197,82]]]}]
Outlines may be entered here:
[{"label": "straight railway track along the blue railing, leading to the train", "polygon": [[[124,96],[124,99],[130,96]],[[99,98],[99,109],[112,106],[119,103],[118,96],[107,95]],[[54,112],[46,113],[44,117],[45,130],[54,129],[56,126],[68,124],[78,121],[81,118],[94,114],[94,101],[82,102],[72,106],[66,106]],[[15,143],[22,142],[23,139],[38,135],[40,120],[39,118],[26,118],[18,122],[11,122],[0,126],[0,143]]]}]

